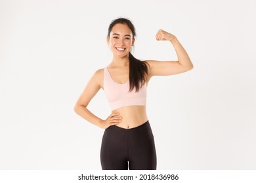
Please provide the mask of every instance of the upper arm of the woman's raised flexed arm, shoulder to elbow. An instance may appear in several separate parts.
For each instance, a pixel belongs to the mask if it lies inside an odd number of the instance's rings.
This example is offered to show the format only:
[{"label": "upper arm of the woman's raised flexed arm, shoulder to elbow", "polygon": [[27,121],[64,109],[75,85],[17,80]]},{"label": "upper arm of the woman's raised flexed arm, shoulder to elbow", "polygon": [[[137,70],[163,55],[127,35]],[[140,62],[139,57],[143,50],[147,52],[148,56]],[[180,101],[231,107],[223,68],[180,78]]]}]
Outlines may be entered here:
[{"label": "upper arm of the woman's raised flexed arm, shoulder to elbow", "polygon": [[150,76],[169,76],[188,71],[179,61],[147,60],[146,62],[150,65],[148,73]]}]

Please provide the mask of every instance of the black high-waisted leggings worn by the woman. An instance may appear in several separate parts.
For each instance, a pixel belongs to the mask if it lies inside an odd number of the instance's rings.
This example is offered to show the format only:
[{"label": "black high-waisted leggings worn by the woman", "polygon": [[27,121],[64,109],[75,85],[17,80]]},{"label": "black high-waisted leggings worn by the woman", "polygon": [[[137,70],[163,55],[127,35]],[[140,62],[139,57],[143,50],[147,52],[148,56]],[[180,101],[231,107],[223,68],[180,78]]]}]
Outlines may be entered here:
[{"label": "black high-waisted leggings worn by the woman", "polygon": [[156,148],[149,122],[131,129],[116,125],[105,129],[100,162],[102,170],[156,170]]}]

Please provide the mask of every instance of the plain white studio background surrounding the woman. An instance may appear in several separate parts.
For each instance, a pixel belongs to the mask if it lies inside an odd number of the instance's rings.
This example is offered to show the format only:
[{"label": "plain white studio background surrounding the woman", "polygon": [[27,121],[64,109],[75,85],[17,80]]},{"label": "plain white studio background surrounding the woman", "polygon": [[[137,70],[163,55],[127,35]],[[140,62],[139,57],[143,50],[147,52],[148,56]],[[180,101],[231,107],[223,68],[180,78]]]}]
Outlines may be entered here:
[{"label": "plain white studio background surrounding the woman", "polygon": [[[93,73],[106,67],[114,18],[137,29],[134,56],[194,69],[148,84],[158,169],[256,169],[255,2],[0,1],[0,169],[101,169],[104,129],[75,114]],[[254,12],[253,12],[254,11]],[[100,90],[88,107],[111,110]]]}]

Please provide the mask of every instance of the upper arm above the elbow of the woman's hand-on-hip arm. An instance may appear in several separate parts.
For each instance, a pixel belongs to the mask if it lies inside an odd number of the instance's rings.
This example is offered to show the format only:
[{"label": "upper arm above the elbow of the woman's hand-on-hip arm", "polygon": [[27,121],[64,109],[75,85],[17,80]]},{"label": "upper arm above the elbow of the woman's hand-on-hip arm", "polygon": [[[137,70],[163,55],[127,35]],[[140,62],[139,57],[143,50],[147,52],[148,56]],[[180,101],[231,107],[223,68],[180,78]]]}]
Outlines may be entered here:
[{"label": "upper arm above the elbow of the woman's hand-on-hip arm", "polygon": [[85,86],[85,89],[79,96],[79,99],[77,100],[76,105],[82,105],[84,107],[87,107],[91,99],[93,99],[93,97],[96,95],[98,90],[100,90],[101,78],[100,78],[100,73],[98,72],[99,71],[96,71],[94,75],[90,78],[89,82]]}]

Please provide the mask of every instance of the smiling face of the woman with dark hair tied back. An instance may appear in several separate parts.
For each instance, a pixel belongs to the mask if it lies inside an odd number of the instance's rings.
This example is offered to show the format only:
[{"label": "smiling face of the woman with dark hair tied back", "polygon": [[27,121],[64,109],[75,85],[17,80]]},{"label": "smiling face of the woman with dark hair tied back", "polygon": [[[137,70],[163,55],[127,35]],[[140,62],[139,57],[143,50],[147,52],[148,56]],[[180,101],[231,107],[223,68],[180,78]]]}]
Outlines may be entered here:
[{"label": "smiling face of the woman with dark hair tied back", "polygon": [[110,50],[114,56],[125,57],[129,54],[135,39],[131,29],[126,24],[116,24],[107,38]]}]

